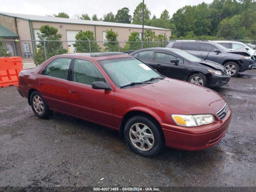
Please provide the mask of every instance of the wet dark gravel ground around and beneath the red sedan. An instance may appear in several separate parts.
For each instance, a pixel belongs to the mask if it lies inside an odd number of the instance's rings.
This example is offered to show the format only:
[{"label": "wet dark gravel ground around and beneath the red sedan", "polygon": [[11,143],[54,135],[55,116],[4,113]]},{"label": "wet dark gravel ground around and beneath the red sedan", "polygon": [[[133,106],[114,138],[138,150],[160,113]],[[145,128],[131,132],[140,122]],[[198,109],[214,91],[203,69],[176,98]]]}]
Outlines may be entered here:
[{"label": "wet dark gravel ground around and beneath the red sedan", "polygon": [[118,133],[54,113],[34,116],[16,87],[0,89],[0,186],[255,186],[256,70],[215,88],[233,116],[212,148],[131,152]]}]

